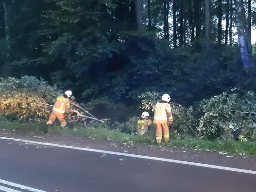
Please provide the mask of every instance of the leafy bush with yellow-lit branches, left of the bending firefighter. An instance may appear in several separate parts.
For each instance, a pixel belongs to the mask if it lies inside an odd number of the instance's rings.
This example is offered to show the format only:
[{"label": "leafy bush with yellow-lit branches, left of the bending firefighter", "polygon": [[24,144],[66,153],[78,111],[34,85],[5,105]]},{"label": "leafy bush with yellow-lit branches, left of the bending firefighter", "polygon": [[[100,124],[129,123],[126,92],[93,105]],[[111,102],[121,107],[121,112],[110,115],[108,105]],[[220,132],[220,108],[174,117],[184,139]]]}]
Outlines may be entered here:
[{"label": "leafy bush with yellow-lit branches, left of the bending firefighter", "polygon": [[[43,79],[23,76],[0,79],[0,115],[8,120],[46,121],[61,91]],[[67,118],[71,119],[71,114]]]}]

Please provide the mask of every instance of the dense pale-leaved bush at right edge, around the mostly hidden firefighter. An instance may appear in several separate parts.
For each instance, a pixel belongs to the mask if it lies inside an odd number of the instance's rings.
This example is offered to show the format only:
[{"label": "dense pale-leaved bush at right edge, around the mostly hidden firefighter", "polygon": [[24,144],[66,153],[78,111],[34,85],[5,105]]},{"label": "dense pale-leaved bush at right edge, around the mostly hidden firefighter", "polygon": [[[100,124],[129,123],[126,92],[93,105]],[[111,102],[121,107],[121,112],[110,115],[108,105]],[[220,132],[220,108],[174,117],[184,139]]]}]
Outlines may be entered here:
[{"label": "dense pale-leaved bush at right edge, around the mostly hidden firefighter", "polygon": [[256,134],[254,92],[245,94],[223,92],[209,100],[201,101],[197,109],[202,113],[197,125],[200,135],[225,136],[224,128],[231,123],[236,123],[248,138],[253,138]]}]

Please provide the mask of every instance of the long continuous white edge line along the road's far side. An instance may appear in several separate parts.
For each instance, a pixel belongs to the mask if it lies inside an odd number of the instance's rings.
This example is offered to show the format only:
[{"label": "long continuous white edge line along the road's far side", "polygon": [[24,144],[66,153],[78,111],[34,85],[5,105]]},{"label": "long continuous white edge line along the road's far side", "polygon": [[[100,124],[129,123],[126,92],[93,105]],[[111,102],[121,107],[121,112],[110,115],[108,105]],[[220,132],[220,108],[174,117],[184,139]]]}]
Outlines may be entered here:
[{"label": "long continuous white edge line along the road's far side", "polygon": [[240,169],[240,168],[234,168],[234,167],[224,167],[224,166],[210,165],[210,164],[204,164],[204,163],[195,163],[195,162],[183,161],[183,160],[158,158],[158,157],[136,155],[136,154],[129,154],[129,153],[120,153],[120,152],[114,152],[114,151],[109,151],[109,150],[95,150],[95,149],[90,149],[90,148],[73,147],[73,146],[60,145],[60,144],[49,143],[49,142],[35,142],[35,141],[29,141],[29,140],[9,138],[9,137],[0,137],[0,139],[17,141],[17,142],[28,142],[28,143],[38,144],[38,145],[61,147],[61,148],[67,148],[67,149],[85,150],[85,151],[91,151],[91,152],[97,152],[97,153],[120,155],[120,156],[125,156],[125,157],[132,157],[132,158],[165,161],[165,162],[170,162],[170,163],[179,163],[179,164],[184,164],[184,165],[207,167],[207,168],[213,168],[213,169],[221,169],[221,170],[226,170],[226,171],[234,171],[234,172],[238,172],[238,173],[247,173],[247,174],[256,175],[256,171],[254,171],[254,170]]}]

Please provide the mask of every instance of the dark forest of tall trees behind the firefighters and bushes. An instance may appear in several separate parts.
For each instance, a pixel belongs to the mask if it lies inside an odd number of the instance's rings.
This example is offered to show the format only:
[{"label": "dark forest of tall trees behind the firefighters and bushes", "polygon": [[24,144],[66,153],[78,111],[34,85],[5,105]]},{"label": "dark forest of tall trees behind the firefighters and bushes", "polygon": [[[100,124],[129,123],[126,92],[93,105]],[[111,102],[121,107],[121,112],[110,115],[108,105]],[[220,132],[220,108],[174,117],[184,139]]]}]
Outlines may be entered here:
[{"label": "dark forest of tall trees behind the firefighters and bushes", "polygon": [[143,92],[192,105],[254,91],[255,3],[1,0],[0,74],[42,77],[110,116]]}]

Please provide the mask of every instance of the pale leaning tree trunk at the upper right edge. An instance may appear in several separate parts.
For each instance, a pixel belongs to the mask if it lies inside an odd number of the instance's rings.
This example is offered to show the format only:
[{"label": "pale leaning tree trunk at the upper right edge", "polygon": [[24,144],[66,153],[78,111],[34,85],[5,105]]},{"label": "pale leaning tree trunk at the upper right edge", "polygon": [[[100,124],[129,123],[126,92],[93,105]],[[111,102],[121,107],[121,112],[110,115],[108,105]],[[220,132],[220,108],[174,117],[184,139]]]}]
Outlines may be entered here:
[{"label": "pale leaning tree trunk at the upper right edge", "polygon": [[235,13],[236,13],[236,25],[238,30],[238,44],[240,47],[241,58],[243,62],[243,68],[248,69],[250,67],[250,59],[247,50],[246,38],[245,38],[245,9],[243,0],[235,0]]}]

